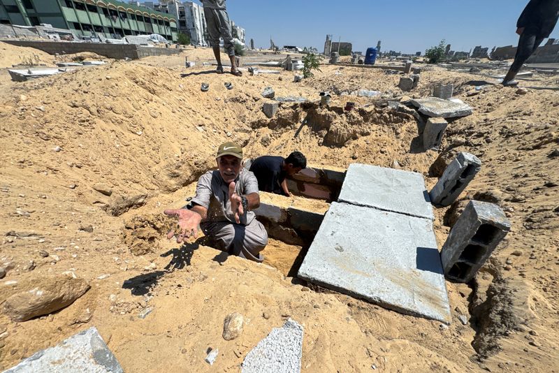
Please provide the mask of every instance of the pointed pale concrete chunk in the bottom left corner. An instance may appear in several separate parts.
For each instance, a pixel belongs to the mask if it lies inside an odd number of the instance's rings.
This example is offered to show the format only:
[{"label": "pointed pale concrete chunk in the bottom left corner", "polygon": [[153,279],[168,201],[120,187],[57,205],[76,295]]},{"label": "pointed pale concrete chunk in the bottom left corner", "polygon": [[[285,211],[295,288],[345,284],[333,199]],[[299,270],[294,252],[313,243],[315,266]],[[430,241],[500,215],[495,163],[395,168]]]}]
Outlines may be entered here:
[{"label": "pointed pale concrete chunk in the bottom left corner", "polygon": [[96,328],[89,328],[64,339],[57,346],[38,351],[4,373],[24,372],[122,373],[124,371],[99,335],[99,331]]}]

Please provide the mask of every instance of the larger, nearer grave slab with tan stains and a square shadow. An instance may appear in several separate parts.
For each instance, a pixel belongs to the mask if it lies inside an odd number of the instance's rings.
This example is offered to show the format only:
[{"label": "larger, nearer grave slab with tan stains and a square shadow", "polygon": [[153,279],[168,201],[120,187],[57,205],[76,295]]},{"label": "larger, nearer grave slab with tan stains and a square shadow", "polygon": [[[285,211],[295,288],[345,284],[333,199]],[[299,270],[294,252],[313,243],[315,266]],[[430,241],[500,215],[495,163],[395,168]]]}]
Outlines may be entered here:
[{"label": "larger, nearer grave slab with tan stains and a square shadow", "polygon": [[332,203],[298,277],[404,314],[451,321],[429,219]]}]

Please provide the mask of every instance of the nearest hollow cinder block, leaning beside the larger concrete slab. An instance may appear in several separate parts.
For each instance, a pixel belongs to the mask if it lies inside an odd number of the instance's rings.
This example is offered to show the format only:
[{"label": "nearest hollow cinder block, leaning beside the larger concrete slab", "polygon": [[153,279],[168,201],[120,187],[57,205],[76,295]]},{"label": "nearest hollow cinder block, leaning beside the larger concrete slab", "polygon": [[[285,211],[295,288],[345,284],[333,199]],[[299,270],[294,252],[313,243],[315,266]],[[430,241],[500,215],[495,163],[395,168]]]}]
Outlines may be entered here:
[{"label": "nearest hollow cinder block, leaning beside the larger concrete slab", "polygon": [[458,282],[473,279],[510,228],[498,205],[470,201],[442,247],[444,274]]}]

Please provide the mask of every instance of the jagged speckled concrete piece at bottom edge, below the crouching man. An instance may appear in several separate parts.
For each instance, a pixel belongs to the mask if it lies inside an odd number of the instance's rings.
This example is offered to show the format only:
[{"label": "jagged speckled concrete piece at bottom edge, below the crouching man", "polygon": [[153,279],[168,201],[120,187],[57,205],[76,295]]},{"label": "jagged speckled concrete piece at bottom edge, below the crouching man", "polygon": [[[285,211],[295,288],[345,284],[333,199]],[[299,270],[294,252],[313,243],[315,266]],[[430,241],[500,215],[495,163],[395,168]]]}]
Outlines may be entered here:
[{"label": "jagged speckled concrete piece at bottom edge, below the crouching man", "polygon": [[242,361],[242,373],[297,373],[301,370],[303,326],[291,319],[273,329]]}]

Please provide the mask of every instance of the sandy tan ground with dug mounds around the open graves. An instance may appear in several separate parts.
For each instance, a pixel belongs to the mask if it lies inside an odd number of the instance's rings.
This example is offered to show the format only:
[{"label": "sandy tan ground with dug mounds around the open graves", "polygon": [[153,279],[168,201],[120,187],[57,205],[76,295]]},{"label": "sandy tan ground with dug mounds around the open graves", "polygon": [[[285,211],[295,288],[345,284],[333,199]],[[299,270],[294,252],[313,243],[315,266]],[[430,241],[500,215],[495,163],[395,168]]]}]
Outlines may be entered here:
[{"label": "sandy tan ground with dug mounds around the open graves", "polygon": [[[203,61],[210,52],[188,53]],[[19,53],[7,63],[17,63]],[[426,96],[435,84],[453,82],[455,96],[472,105],[474,115],[449,126],[442,149],[481,158],[481,173],[461,198],[495,201],[513,227],[472,284],[447,282],[447,327],[286,277],[300,247],[272,241],[259,265],[203,241],[178,247],[164,239],[161,211],[192,195],[224,140],[242,143],[247,156],[297,149],[316,165],[398,161],[433,186],[429,169],[440,154],[412,151],[411,116],[340,96],[372,89],[400,98],[399,75],[322,66],[294,83],[286,71],[236,78],[182,66],[184,55],[150,57],[24,83],[0,71],[0,262],[9,268],[0,293],[12,291],[7,281],[67,271],[92,286],[55,314],[22,323],[1,314],[0,368],[96,326],[126,372],[238,372],[246,353],[291,317],[305,326],[303,372],[557,371],[559,158],[551,155],[559,147],[559,92],[487,85],[469,96],[487,79],[426,68],[419,87],[405,94]],[[542,86],[556,81],[535,79]],[[201,92],[202,82],[210,92]],[[362,110],[315,110],[314,122],[301,125],[304,110],[282,105],[270,121],[261,112],[267,86],[276,96],[314,101],[328,90],[333,106],[354,101]],[[97,183],[112,194],[92,189]],[[451,216],[451,209],[436,210],[440,247]],[[142,255],[126,238],[135,230],[148,243]],[[139,319],[148,307],[153,312]],[[223,320],[231,312],[247,324],[226,342]],[[462,314],[467,325],[458,321]],[[210,347],[219,349],[212,367],[204,362]]]}]

